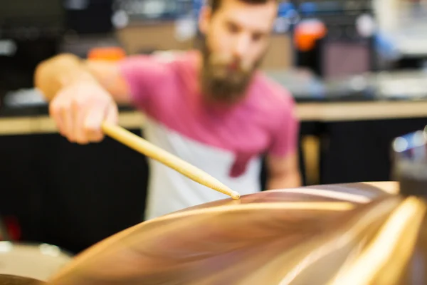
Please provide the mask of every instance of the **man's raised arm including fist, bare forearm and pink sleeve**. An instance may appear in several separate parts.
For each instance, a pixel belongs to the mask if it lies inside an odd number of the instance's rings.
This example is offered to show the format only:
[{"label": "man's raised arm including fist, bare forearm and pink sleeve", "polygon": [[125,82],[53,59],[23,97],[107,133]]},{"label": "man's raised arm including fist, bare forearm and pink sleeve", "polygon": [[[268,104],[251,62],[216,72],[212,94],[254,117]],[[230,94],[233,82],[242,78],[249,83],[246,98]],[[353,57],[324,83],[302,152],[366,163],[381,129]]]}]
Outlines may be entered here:
[{"label": "man's raised arm including fist, bare forearm and pink sleeve", "polygon": [[86,144],[104,138],[103,122],[117,123],[117,103],[145,108],[171,73],[149,56],[113,63],[62,54],[40,63],[34,81],[49,101],[49,113],[61,135]]}]

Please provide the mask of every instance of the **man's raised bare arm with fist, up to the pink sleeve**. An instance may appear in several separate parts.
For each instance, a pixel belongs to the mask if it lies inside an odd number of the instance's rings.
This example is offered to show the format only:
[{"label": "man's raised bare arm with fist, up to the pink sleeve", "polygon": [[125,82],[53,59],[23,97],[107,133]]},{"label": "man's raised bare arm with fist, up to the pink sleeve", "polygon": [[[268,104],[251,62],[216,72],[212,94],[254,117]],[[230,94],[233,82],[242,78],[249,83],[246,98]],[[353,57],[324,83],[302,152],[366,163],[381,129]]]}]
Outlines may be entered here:
[{"label": "man's raised bare arm with fist, up to the pink sleeve", "polygon": [[36,68],[34,83],[49,101],[49,113],[61,135],[87,144],[104,138],[103,122],[117,123],[116,102],[130,95],[115,63],[85,62],[63,54]]}]

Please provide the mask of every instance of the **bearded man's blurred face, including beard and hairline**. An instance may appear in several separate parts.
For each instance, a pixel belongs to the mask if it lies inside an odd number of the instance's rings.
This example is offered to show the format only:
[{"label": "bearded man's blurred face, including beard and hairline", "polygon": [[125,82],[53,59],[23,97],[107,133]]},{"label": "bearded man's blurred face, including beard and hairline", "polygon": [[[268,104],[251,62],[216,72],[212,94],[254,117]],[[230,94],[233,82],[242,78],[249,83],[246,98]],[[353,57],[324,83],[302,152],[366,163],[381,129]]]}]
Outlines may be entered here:
[{"label": "bearded man's blurred face, including beard and hairline", "polygon": [[268,47],[277,14],[275,1],[248,4],[223,0],[211,14],[201,15],[205,35],[201,86],[211,100],[233,103],[241,98]]}]

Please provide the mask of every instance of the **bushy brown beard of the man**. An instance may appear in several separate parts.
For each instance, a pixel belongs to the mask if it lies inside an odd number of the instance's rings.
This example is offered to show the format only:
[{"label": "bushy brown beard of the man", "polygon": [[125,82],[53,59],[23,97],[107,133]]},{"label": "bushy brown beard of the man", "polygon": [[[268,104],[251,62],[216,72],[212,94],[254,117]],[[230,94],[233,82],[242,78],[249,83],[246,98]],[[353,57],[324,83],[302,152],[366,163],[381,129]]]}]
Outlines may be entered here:
[{"label": "bushy brown beard of the man", "polygon": [[201,46],[201,91],[211,103],[236,103],[241,100],[251,83],[263,56],[255,63],[226,54],[213,53],[206,44]]}]

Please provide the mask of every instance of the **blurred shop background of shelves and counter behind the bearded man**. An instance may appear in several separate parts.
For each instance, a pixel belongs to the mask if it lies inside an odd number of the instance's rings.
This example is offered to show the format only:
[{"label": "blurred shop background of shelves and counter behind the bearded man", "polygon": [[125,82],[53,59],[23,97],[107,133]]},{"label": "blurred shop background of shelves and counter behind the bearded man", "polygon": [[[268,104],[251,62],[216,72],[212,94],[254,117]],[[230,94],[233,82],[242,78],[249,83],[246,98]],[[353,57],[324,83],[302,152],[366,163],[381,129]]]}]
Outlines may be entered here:
[{"label": "blurred shop background of shelves and counter behind the bearded man", "polygon": [[[61,138],[33,71],[62,52],[114,58],[194,48],[202,4],[0,0],[0,240],[77,253],[140,222],[145,157],[109,139],[80,146]],[[427,125],[426,31],[426,0],[280,5],[262,68],[297,101],[305,185],[391,180],[392,140]],[[121,113],[122,125],[143,136],[142,114]]]}]

